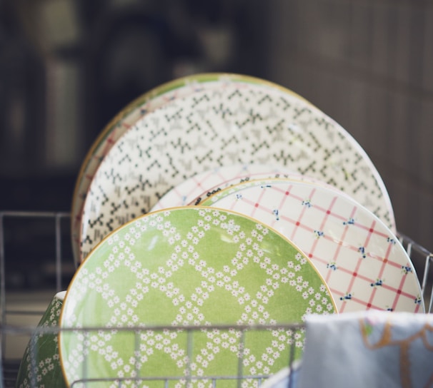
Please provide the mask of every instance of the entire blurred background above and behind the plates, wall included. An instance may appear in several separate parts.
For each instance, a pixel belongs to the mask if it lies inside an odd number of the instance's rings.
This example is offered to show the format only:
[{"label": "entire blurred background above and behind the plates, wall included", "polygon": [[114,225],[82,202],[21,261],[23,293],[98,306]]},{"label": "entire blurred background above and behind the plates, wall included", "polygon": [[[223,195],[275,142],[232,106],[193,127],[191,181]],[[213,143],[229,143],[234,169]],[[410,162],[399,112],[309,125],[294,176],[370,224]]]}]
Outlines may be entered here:
[{"label": "entire blurred background above and behind the plates, wall included", "polygon": [[[398,230],[433,250],[432,4],[0,0],[0,210],[69,212],[81,162],[121,108],[174,78],[228,71],[339,122],[382,175]],[[12,230],[20,242],[34,227]]]}]

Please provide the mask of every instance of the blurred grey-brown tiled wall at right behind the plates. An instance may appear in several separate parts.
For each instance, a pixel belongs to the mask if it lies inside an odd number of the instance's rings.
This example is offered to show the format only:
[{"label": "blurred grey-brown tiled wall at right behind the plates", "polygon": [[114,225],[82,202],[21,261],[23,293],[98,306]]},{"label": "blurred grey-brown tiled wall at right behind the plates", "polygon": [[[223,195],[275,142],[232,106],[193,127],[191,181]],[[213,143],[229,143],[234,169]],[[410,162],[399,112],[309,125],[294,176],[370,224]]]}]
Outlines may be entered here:
[{"label": "blurred grey-brown tiled wall at right behind the plates", "polygon": [[339,122],[433,250],[433,1],[271,0],[268,78]]}]

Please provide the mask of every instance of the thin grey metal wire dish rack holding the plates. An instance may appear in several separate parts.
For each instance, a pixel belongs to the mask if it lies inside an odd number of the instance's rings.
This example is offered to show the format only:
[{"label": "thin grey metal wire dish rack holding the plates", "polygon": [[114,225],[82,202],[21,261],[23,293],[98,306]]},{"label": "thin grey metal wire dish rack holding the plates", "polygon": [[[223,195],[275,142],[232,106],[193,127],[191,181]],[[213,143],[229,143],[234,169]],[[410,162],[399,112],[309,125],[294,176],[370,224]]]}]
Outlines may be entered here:
[{"label": "thin grey metal wire dish rack holding the plates", "polygon": [[[411,258],[419,282],[426,312],[432,312],[432,260],[433,254],[419,245],[407,235],[398,233],[398,237],[407,254]],[[40,212],[40,211],[3,211],[0,212],[0,388],[15,387],[19,365],[26,348],[31,344],[32,338],[41,335],[56,336],[58,327],[38,326],[42,315],[46,312],[52,298],[57,292],[66,290],[76,267],[72,257],[70,238],[70,214],[68,212]],[[289,325],[245,325],[237,327],[228,326],[190,326],[181,327],[187,334],[187,359],[191,359],[195,332],[204,330],[236,330],[239,359],[236,372],[217,376],[195,376],[191,373],[192,364],[186,362],[183,376],[146,376],[121,379],[119,377],[104,379],[77,380],[71,387],[89,386],[98,387],[98,382],[110,382],[112,387],[124,387],[126,380],[128,386],[141,387],[149,381],[161,382],[158,387],[174,387],[174,381],[180,382],[182,387],[191,384],[206,383],[206,387],[244,387],[248,382],[259,387],[269,374],[247,374],[245,372],[242,352],[245,335],[248,332],[283,331],[288,334],[287,358],[284,364],[289,366],[299,356],[296,338],[304,333],[302,322]],[[66,330],[66,329],[62,329]],[[76,329],[74,329],[76,330]],[[82,331],[108,330],[103,327],[83,328]],[[122,329],[138,335],[143,327],[128,327]],[[179,327],[146,327],[146,330],[164,332],[179,330]],[[67,330],[66,330],[67,331]],[[36,350],[30,347],[31,362],[36,362]],[[253,382],[253,383],[252,383]],[[227,385],[228,384],[228,385]],[[29,382],[31,387],[39,387],[36,378]],[[197,385],[199,386],[199,385]],[[204,386],[204,385],[203,385]]]}]

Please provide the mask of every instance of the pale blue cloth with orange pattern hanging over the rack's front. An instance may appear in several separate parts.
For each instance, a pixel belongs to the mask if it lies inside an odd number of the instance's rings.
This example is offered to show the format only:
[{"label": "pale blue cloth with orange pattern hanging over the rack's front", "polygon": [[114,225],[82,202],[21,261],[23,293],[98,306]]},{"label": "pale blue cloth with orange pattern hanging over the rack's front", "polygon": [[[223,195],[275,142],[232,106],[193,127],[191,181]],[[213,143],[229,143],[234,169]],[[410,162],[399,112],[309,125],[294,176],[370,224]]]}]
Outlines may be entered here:
[{"label": "pale blue cloth with orange pattern hanging over the rack's front", "polygon": [[299,388],[433,387],[433,315],[309,315]]}]

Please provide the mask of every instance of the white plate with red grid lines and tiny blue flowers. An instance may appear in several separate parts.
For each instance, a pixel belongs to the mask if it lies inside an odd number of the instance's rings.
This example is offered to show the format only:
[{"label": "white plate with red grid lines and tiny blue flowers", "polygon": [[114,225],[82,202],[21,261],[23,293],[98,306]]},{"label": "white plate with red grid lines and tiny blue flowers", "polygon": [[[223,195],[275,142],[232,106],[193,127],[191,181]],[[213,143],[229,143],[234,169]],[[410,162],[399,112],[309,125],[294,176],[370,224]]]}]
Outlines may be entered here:
[{"label": "white plate with red grid lines and tiny blue flowers", "polygon": [[254,217],[297,244],[326,280],[339,312],[424,312],[417,274],[395,235],[337,190],[269,179],[232,186],[201,205]]}]

